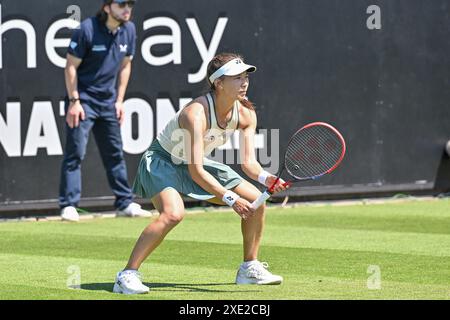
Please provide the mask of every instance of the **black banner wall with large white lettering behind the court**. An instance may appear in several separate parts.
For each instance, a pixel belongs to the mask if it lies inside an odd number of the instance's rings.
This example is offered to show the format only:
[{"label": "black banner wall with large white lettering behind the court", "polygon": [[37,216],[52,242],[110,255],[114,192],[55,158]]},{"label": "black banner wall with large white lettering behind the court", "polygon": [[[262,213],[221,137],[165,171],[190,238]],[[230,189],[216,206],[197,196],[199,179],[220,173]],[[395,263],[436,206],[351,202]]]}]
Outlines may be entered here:
[{"label": "black banner wall with large white lettering behind the court", "polygon": [[[101,3],[0,4],[1,208],[56,203],[64,55],[72,29]],[[207,89],[208,61],[231,51],[258,67],[249,98],[268,171],[278,170],[289,136],[308,122],[333,124],[346,139],[342,166],[293,194],[434,188],[450,139],[450,1],[138,1],[133,21],[138,42],[122,128],[130,182],[168,119]],[[226,148],[216,156],[236,163],[237,140]],[[111,191],[91,138],[83,199],[105,197]]]}]

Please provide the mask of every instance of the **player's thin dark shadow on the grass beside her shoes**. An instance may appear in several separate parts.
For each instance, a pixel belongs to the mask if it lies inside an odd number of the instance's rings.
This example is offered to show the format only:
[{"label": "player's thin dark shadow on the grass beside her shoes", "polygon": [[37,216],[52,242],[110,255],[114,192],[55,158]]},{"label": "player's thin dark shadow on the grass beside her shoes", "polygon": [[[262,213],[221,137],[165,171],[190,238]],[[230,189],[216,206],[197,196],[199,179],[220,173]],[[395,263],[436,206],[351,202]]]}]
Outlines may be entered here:
[{"label": "player's thin dark shadow on the grass beside her shoes", "polygon": [[[230,286],[235,285],[233,282],[230,283],[144,283],[155,291],[187,291],[187,292],[257,292],[258,290],[226,290],[226,289],[210,289],[207,287],[211,286]],[[112,289],[114,283],[85,283],[80,286],[82,290],[90,291],[107,291],[113,292]]]}]

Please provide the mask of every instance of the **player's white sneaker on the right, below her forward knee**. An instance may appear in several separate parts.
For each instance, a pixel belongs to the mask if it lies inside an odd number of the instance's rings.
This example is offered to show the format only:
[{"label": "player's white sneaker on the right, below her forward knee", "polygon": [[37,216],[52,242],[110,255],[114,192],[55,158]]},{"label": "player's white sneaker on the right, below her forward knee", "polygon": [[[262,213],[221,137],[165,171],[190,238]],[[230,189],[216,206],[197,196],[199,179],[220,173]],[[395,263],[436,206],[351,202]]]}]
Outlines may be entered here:
[{"label": "player's white sneaker on the right, below her forward knee", "polygon": [[281,276],[270,273],[267,262],[253,261],[245,268],[242,263],[236,275],[236,284],[280,284]]}]

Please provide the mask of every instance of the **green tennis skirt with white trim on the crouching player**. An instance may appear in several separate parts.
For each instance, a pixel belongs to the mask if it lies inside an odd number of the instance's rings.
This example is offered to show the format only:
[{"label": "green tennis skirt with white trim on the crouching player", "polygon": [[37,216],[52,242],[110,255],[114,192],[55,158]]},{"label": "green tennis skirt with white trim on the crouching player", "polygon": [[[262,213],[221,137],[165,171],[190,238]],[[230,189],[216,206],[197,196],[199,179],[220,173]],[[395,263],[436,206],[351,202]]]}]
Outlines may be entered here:
[{"label": "green tennis skirt with white trim on the crouching player", "polygon": [[[226,189],[232,189],[243,181],[229,166],[208,158],[204,158],[203,168]],[[133,183],[133,192],[151,199],[166,188],[174,188],[179,193],[197,200],[215,197],[192,180],[187,164],[175,164],[170,153],[155,139],[142,155]]]}]

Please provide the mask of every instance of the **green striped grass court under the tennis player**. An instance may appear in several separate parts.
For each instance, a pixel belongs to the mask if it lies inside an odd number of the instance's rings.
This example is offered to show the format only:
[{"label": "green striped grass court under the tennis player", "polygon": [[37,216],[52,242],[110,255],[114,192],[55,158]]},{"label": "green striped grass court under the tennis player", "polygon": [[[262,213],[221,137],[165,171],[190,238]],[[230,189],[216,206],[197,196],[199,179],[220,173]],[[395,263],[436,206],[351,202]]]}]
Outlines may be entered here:
[{"label": "green striped grass court under the tennis player", "polygon": [[151,219],[0,223],[0,299],[450,299],[449,199],[268,209],[260,260],[280,286],[233,284],[237,214],[188,214],[140,270],[150,293],[113,294]]}]

